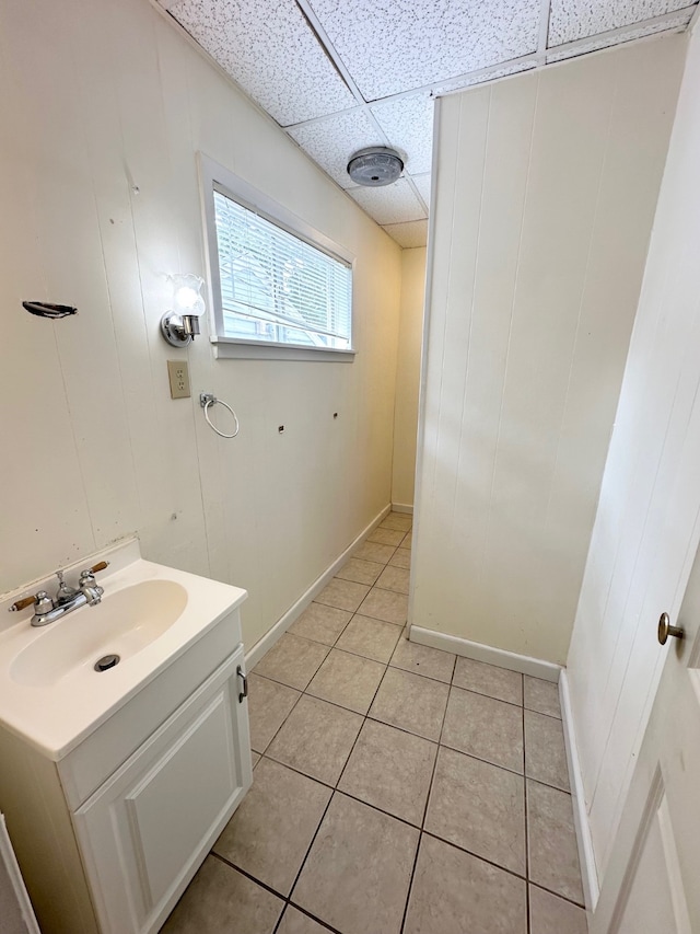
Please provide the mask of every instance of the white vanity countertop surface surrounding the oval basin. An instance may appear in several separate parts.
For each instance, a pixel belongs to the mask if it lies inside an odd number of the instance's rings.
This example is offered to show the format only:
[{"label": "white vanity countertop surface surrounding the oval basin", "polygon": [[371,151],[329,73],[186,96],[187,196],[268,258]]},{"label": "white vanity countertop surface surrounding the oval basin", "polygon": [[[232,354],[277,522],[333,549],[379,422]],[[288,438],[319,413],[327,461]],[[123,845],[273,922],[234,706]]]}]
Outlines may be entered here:
[{"label": "white vanity countertop surface surrounding the oval basin", "polygon": [[[30,608],[22,611],[18,623],[0,632],[0,725],[55,761],[67,756],[247,597],[247,592],[238,587],[144,561],[136,541],[82,560],[75,566],[82,569],[102,558],[110,562],[109,568],[97,575],[105,589],[102,598],[105,606],[108,606],[110,596],[152,580],[179,585],[187,591],[187,601],[162,634],[137,652],[125,655],[115,668],[97,672],[93,668],[96,658],[91,656],[83,664],[73,666],[66,676],[61,677],[59,672],[47,684],[21,683],[13,677],[13,664],[49,633],[56,633],[51,636],[56,639],[58,627],[70,635],[71,624],[80,614],[86,616],[85,621],[80,621],[84,623],[94,613],[97,625],[102,604],[81,607],[40,627],[30,624],[33,613]],[[48,580],[45,579],[47,585]],[[18,597],[35,592],[43,583],[2,597],[0,613],[7,612]],[[55,589],[52,584],[49,586]]]}]

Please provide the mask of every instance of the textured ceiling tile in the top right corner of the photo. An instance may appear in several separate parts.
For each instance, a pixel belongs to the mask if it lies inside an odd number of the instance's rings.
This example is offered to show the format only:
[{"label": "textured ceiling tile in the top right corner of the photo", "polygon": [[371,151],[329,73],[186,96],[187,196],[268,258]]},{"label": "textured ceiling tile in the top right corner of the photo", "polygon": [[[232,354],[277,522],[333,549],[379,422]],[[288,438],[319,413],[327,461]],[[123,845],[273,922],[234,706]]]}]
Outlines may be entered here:
[{"label": "textured ceiling tile in the top right corner of the photo", "polygon": [[549,47],[639,23],[691,5],[691,0],[551,0]]}]

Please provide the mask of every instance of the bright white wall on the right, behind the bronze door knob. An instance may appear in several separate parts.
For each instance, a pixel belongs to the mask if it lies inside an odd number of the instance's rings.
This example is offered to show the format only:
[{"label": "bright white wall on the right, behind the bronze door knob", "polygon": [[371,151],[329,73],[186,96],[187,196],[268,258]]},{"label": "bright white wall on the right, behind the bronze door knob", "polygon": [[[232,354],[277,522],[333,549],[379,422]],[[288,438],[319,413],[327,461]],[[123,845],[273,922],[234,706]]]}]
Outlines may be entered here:
[{"label": "bright white wall on the right, behind the bronze door knob", "polygon": [[700,538],[699,87],[696,31],[569,654],[600,877]]}]

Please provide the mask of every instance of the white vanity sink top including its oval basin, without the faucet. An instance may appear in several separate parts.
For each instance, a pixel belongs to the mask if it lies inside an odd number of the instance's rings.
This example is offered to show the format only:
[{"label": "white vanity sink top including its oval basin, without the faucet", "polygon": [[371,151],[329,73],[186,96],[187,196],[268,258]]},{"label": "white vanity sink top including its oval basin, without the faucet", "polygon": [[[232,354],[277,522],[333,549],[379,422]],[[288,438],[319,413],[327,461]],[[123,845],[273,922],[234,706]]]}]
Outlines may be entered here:
[{"label": "white vanity sink top including its oval basin, without the faucet", "polygon": [[[143,561],[130,540],[88,556],[68,576],[106,558],[97,575],[102,602],[81,607],[46,626],[20,622],[7,609],[56,578],[0,598],[0,724],[44,756],[62,759],[149,681],[182,656],[246,598],[217,580]],[[231,650],[235,646],[231,646]],[[105,655],[119,662],[96,671]]]}]

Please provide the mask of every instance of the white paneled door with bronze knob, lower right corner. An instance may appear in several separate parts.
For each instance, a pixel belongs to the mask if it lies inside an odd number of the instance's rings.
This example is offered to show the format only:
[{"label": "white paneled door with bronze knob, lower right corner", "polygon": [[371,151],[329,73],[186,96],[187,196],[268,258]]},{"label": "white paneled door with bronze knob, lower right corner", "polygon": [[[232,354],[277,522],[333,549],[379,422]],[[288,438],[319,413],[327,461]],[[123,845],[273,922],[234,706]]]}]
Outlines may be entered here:
[{"label": "white paneled door with bronze knob, lower right corner", "polygon": [[591,934],[700,934],[700,550],[676,626]]}]

